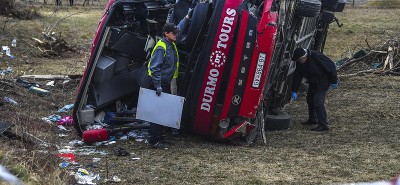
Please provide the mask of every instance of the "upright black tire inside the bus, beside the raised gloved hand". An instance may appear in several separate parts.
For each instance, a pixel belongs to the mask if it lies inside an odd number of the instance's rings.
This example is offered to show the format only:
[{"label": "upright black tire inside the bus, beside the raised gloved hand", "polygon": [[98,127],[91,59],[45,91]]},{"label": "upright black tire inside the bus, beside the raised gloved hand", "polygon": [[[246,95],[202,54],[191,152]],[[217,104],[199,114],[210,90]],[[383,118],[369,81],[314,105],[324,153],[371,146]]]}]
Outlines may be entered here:
[{"label": "upright black tire inside the bus, beside the raised gloved hand", "polygon": [[[193,0],[194,1],[194,0]],[[198,3],[193,9],[193,15],[191,16],[191,23],[189,30],[186,34],[186,40],[184,46],[186,48],[192,48],[198,33],[200,32],[201,25],[204,21],[205,15],[207,14],[208,3]]]}]

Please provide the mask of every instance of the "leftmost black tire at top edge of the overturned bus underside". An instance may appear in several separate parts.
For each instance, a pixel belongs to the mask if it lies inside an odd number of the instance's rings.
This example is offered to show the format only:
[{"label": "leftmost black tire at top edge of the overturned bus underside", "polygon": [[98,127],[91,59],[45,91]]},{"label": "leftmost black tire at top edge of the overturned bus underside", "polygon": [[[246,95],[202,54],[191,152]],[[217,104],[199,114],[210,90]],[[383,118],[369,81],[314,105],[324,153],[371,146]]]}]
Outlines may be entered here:
[{"label": "leftmost black tire at top edge of the overturned bus underside", "polygon": [[297,16],[316,17],[321,9],[321,2],[318,0],[297,0],[294,14]]}]

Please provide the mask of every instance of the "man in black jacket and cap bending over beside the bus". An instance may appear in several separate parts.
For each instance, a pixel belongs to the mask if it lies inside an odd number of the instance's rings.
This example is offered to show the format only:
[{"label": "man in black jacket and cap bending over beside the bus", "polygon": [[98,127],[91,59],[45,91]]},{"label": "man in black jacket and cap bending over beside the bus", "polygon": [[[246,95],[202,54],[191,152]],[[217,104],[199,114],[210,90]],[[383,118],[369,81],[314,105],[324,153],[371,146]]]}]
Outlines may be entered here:
[{"label": "man in black jacket and cap bending over beside the bus", "polygon": [[[301,124],[318,124],[311,130],[328,130],[329,125],[326,119],[325,94],[329,86],[337,86],[336,65],[322,53],[311,51],[304,48],[296,48],[291,60],[296,61],[293,83],[291,86],[292,97],[297,99],[297,91],[300,87],[301,79],[308,80],[307,91],[308,120]],[[315,121],[315,115],[318,122]]]}]

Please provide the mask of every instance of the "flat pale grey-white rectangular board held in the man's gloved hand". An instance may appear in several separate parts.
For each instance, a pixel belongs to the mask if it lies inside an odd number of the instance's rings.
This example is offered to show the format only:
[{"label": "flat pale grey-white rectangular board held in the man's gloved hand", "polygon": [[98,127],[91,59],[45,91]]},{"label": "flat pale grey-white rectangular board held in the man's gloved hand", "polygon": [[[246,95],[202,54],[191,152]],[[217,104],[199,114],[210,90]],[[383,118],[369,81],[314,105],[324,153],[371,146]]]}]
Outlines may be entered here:
[{"label": "flat pale grey-white rectangular board held in the man's gloved hand", "polygon": [[154,90],[140,87],[136,119],[179,129],[183,101],[181,96],[163,92],[157,96]]}]

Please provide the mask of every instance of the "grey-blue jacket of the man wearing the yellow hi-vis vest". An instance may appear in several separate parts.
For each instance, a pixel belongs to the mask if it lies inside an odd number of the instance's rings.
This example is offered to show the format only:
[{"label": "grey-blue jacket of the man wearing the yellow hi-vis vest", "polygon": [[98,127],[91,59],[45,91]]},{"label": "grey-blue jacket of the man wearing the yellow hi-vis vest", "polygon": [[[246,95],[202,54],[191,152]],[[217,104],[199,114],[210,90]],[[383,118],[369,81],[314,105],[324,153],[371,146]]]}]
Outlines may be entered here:
[{"label": "grey-blue jacket of the man wearing the yellow hi-vis vest", "polygon": [[[189,19],[185,17],[176,27],[184,30],[188,22]],[[182,34],[183,31],[178,32],[176,40],[179,40]],[[148,64],[148,70],[150,71],[150,76],[155,87],[160,87],[161,83],[169,84],[175,74],[175,70],[177,73],[178,66],[178,53],[175,44],[168,41],[164,36],[161,42],[165,44],[166,49],[161,45],[154,47]]]}]

